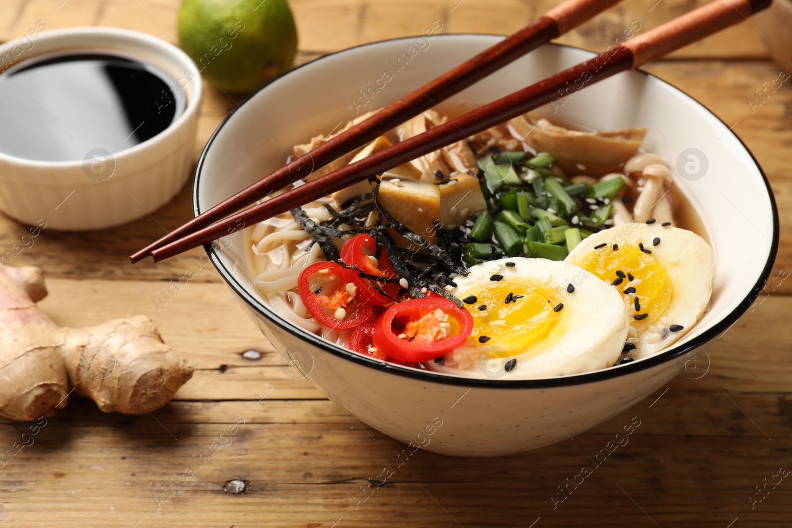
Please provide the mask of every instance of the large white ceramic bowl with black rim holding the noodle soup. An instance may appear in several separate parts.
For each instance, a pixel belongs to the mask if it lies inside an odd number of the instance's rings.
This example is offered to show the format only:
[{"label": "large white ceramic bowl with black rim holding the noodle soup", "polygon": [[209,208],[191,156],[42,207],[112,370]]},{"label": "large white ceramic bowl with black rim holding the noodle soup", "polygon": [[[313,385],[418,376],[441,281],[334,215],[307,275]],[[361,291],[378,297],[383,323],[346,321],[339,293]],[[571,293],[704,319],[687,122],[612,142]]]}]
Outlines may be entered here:
[{"label": "large white ceramic bowl with black rim holding the noodle soup", "polygon": [[[394,101],[501,38],[437,36],[365,110]],[[254,93],[209,140],[196,170],[194,212],[265,176],[284,162],[292,144],[352,119],[358,90],[381,78],[384,69],[392,70],[389,60],[410,44],[413,39],[390,40],[328,55]],[[547,45],[451,102],[486,103],[591,56]],[[714,294],[699,325],[658,355],[587,374],[523,381],[399,367],[329,344],[273,313],[252,285],[243,234],[223,239],[224,249],[207,246],[207,251],[261,332],[299,369],[295,375],[307,376],[356,419],[394,439],[437,453],[494,456],[578,435],[641,401],[686,367],[689,377],[705,370],[701,363],[693,369],[696,355],[741,316],[767,280],[778,245],[778,215],[756,160],[729,127],[649,74],[619,74],[588,86],[569,97],[556,118],[600,129],[647,127],[646,150],[672,163],[692,161],[688,169],[695,169],[695,161],[687,156],[699,158],[699,173],[685,173],[676,184],[710,228],[717,262]]]}]

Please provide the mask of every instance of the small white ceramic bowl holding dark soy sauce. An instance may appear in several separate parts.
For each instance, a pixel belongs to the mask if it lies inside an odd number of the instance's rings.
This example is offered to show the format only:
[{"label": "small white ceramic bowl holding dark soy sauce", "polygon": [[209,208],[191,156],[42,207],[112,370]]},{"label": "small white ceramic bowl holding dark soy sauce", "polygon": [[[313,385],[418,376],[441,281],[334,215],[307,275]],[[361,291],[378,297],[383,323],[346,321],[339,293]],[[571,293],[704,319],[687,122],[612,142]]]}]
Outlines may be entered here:
[{"label": "small white ceramic bowl holding dark soy sauce", "polygon": [[103,159],[34,161],[0,152],[0,211],[27,224],[44,218],[55,230],[101,229],[152,213],[173,198],[190,175],[200,72],[178,47],[120,28],[36,32],[2,44],[0,58],[13,60],[4,60],[0,67],[72,50],[115,51],[159,66],[176,79],[172,89],[185,92],[185,111],[165,131]]}]

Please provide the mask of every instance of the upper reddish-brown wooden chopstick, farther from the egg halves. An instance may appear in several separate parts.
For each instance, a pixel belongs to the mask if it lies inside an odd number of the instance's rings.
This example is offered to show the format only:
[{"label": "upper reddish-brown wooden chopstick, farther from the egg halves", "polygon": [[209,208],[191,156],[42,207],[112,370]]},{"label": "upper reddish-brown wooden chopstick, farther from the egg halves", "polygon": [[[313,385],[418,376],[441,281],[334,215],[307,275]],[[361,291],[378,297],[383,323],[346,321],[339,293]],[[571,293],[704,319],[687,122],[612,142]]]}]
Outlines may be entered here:
[{"label": "upper reddish-brown wooden chopstick, farther from the egg halves", "polygon": [[192,218],[185,225],[134,253],[129,257],[129,260],[135,264],[149,256],[154,249],[239,211],[257,199],[265,198],[272,191],[308,177],[315,169],[373,141],[391,128],[417,116],[428,108],[432,108],[435,104],[445,101],[455,93],[500,70],[508,63],[512,63],[528,51],[562,36],[565,32],[576,28],[618,2],[620,0],[567,0],[563,2],[493,47],[487,48],[472,59],[448,70],[440,77],[389,104],[356,126],[341,132],[309,153],[292,160],[288,165],[284,165],[255,184],[204,211],[196,218]]}]

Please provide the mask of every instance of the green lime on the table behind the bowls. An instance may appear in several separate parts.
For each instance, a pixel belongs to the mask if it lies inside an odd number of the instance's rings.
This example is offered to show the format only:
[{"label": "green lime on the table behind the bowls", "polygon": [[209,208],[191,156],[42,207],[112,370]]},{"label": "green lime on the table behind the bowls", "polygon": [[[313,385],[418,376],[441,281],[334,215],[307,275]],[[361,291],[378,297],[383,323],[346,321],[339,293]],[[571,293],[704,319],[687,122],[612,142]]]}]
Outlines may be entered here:
[{"label": "green lime on the table behind the bowls", "polygon": [[291,67],[297,28],[286,0],[184,0],[179,44],[208,82],[243,93]]}]

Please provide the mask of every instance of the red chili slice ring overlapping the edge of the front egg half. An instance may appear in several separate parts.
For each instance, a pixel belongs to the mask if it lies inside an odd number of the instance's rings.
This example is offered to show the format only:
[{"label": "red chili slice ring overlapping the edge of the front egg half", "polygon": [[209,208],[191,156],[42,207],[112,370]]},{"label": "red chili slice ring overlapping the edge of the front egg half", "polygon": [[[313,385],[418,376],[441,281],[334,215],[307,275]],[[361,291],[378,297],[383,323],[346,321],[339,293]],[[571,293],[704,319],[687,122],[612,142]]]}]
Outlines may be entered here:
[{"label": "red chili slice ring overlapping the edge of the front egg half", "polygon": [[[446,315],[447,321],[443,321]],[[399,302],[380,315],[372,337],[374,346],[387,355],[421,363],[457,348],[472,331],[473,316],[455,302],[447,298],[415,298]]]}]

